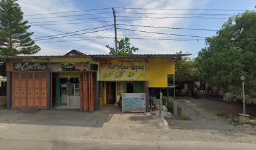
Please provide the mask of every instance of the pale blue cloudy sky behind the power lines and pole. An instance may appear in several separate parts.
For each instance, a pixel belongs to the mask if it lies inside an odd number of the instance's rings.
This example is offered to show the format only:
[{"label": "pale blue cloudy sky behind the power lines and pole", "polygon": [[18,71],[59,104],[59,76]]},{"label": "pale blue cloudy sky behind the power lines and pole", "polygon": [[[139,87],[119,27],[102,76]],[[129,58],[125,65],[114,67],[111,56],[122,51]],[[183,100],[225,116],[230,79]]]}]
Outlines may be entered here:
[{"label": "pale blue cloudy sky behind the power lines and pole", "polygon": [[[41,51],[36,55],[63,55],[72,49],[78,49],[85,54],[108,54],[109,50],[105,47],[109,44],[114,46],[114,29],[112,29],[113,14],[112,7],[115,7],[117,13],[117,24],[133,24],[140,26],[159,26],[159,27],[182,27],[194,29],[220,29],[222,24],[227,21],[229,16],[243,11],[209,11],[209,10],[184,10],[184,9],[254,9],[255,0],[115,0],[115,1],[72,1],[72,0],[19,0],[21,9],[24,12],[24,19],[31,22],[29,31],[35,32],[33,39],[41,36],[52,36],[63,34],[63,36],[71,35],[65,32],[79,31],[95,27],[102,27],[94,30],[83,32],[91,32],[80,34],[77,36],[68,36],[54,38],[48,40],[36,41],[41,47]],[[119,8],[118,8],[119,7]],[[81,11],[86,9],[109,8],[95,11]],[[152,9],[120,9],[120,8],[161,8],[164,10]],[[177,10],[171,10],[177,9]],[[183,9],[183,10],[182,10]],[[61,14],[47,14],[39,16],[29,16],[31,14],[45,14],[51,12],[67,12],[80,11]],[[106,13],[105,13],[106,12]],[[132,13],[131,13],[132,12]],[[134,12],[134,13],[133,13]],[[139,13],[158,13],[158,14],[139,14]],[[218,14],[216,16],[204,16],[206,14]],[[221,15],[219,15],[221,14]],[[75,16],[76,15],[76,16]],[[65,17],[59,17],[65,16]],[[51,17],[51,18],[44,18]],[[90,18],[98,19],[90,19]],[[99,18],[100,17],[100,18]],[[152,19],[154,17],[155,19]],[[159,19],[159,17],[179,17]],[[216,17],[216,19],[213,19]],[[34,19],[33,19],[34,18]],[[36,19],[37,18],[37,19]],[[68,21],[80,19],[75,21]],[[150,20],[138,20],[150,19]],[[129,21],[124,21],[129,20]],[[102,22],[105,21],[105,22]],[[90,23],[88,23],[90,22]],[[35,25],[37,24],[37,25]],[[118,26],[117,34],[119,39],[127,36],[131,37],[132,46],[139,47],[137,54],[174,54],[178,51],[188,52],[195,57],[201,48],[205,47],[205,42],[201,37],[214,36],[216,31],[200,31],[200,30],[184,30],[184,29],[161,29],[138,26]],[[108,30],[109,29],[109,30]],[[132,29],[138,31],[127,31],[124,29]],[[99,31],[102,30],[102,31]],[[95,32],[96,31],[96,32]],[[164,34],[156,34],[149,32],[162,32]],[[173,34],[185,35],[175,36]],[[196,36],[196,37],[193,37]],[[199,36],[199,37],[198,37]],[[201,37],[200,37],[201,36]],[[91,39],[86,39],[90,37]],[[107,37],[107,38],[102,38]],[[92,39],[94,38],[94,39]],[[96,38],[96,39],[95,39]],[[144,39],[132,39],[144,38]],[[151,39],[150,39],[151,38]],[[154,39],[174,39],[189,41],[173,41],[173,40],[153,40]],[[43,39],[43,38],[41,38]],[[77,40],[77,41],[74,41]],[[193,41],[191,41],[193,40]]]}]

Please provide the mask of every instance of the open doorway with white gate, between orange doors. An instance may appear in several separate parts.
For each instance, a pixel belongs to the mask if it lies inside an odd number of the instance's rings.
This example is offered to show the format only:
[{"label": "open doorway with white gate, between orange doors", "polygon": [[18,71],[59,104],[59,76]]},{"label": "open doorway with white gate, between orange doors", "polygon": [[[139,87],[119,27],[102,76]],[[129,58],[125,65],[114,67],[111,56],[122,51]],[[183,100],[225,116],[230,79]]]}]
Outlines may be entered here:
[{"label": "open doorway with white gate, between orange doors", "polygon": [[53,73],[53,108],[79,109],[80,89],[79,78],[60,78]]}]

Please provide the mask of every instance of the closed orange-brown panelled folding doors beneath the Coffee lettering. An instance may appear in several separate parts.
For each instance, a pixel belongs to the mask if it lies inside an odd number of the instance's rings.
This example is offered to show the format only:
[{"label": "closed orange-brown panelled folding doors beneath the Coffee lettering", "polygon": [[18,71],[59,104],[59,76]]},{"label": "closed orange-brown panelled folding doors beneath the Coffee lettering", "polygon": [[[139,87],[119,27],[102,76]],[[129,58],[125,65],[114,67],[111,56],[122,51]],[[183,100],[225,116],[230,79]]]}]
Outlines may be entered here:
[{"label": "closed orange-brown panelled folding doors beneath the Coffee lettering", "polygon": [[13,73],[12,108],[45,108],[46,73]]}]

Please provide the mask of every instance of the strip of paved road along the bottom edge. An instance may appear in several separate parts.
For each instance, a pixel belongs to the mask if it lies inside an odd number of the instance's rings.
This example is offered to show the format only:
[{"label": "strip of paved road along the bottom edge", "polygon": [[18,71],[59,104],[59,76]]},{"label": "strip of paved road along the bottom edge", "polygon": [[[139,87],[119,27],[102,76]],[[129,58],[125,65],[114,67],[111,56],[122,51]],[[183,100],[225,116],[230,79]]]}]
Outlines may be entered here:
[{"label": "strip of paved road along the bottom edge", "polygon": [[132,141],[132,140],[88,140],[88,139],[0,139],[1,149],[255,149],[256,144],[216,143],[202,141]]}]

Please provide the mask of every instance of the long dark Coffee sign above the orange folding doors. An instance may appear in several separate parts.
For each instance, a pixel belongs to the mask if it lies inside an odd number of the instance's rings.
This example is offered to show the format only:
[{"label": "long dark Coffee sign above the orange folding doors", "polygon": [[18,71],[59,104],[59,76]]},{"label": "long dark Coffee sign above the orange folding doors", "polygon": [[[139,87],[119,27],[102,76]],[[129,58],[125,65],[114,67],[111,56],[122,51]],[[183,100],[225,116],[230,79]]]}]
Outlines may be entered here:
[{"label": "long dark Coffee sign above the orange folding doors", "polygon": [[15,71],[88,71],[87,63],[14,63]]}]

